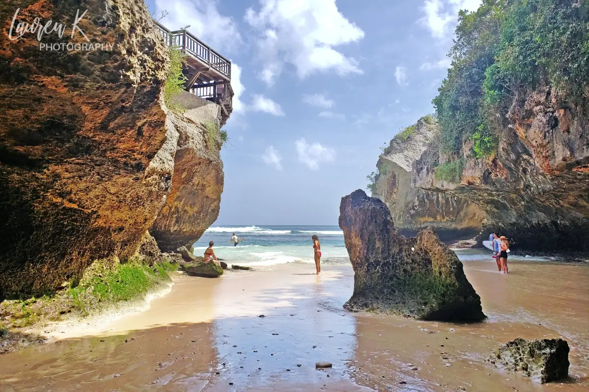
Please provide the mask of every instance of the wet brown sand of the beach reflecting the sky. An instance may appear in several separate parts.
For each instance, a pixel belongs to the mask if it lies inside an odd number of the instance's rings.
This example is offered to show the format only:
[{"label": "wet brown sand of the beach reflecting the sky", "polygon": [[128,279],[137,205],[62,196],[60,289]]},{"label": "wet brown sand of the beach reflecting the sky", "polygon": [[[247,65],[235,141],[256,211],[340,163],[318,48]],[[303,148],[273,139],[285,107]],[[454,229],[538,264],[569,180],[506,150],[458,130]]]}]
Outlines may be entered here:
[{"label": "wet brown sand of the beach reflecting the sky", "polygon": [[[177,276],[171,293],[142,313],[0,356],[0,390],[589,388],[589,267],[512,262],[505,276],[492,260],[464,266],[489,316],[483,323],[348,313],[349,265],[324,265],[320,276],[299,263],[221,279]],[[515,337],[566,339],[570,380],[538,385],[484,361]],[[319,360],[333,368],[316,370]]]}]

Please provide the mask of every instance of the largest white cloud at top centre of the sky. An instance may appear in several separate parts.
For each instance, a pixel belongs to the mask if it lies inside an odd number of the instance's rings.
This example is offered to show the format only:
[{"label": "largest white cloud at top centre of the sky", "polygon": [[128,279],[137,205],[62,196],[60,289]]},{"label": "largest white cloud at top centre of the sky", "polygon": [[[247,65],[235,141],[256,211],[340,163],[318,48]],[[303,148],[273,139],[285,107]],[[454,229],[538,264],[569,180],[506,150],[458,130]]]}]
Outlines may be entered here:
[{"label": "largest white cloud at top centre of the sky", "polygon": [[335,0],[259,0],[249,8],[246,22],[257,31],[256,45],[263,62],[260,79],[272,85],[286,63],[305,78],[315,71],[333,70],[343,76],[362,73],[358,62],[334,49],[357,42],[364,32],[343,16]]}]

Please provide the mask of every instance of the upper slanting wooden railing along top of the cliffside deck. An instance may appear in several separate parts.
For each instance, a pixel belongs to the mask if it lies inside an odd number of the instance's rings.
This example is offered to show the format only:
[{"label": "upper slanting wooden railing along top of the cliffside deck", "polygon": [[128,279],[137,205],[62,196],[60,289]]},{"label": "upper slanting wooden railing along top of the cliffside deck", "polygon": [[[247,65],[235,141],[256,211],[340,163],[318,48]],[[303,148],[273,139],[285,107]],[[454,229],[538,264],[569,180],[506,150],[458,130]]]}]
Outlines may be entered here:
[{"label": "upper slanting wooden railing along top of the cliffside deck", "polygon": [[154,23],[166,45],[176,46],[182,49],[188,55],[200,60],[209,66],[209,68],[215,69],[221,75],[231,80],[231,62],[213,51],[209,45],[200,41],[200,39],[186,30],[170,31],[158,22],[154,21]]}]

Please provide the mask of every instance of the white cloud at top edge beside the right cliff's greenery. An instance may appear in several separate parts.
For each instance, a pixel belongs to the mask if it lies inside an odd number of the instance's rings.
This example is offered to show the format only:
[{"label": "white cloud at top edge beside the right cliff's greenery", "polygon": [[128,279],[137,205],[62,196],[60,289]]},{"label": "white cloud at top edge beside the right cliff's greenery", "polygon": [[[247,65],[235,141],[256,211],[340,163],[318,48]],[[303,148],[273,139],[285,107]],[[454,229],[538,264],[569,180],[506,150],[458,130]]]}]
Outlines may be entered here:
[{"label": "white cloud at top edge beside the right cliff's greenery", "polygon": [[425,16],[420,21],[434,38],[450,39],[458,21],[458,11],[476,11],[479,5],[481,0],[425,0],[422,8]]}]

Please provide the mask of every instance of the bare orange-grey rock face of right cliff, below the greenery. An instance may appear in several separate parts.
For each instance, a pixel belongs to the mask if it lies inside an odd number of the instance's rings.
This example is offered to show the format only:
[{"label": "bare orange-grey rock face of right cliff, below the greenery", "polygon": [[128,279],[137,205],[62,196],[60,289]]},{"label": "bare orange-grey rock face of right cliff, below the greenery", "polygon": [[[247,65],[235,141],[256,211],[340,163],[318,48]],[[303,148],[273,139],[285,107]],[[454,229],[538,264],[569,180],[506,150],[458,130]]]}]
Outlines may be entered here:
[{"label": "bare orange-grey rock face of right cliff, below the greenery", "polygon": [[[499,131],[497,152],[477,159],[465,140],[457,183],[436,177],[449,158],[432,148],[416,162],[412,185],[463,197],[526,252],[589,252],[589,115],[545,86],[517,96]],[[432,156],[434,158],[432,158]]]}]

